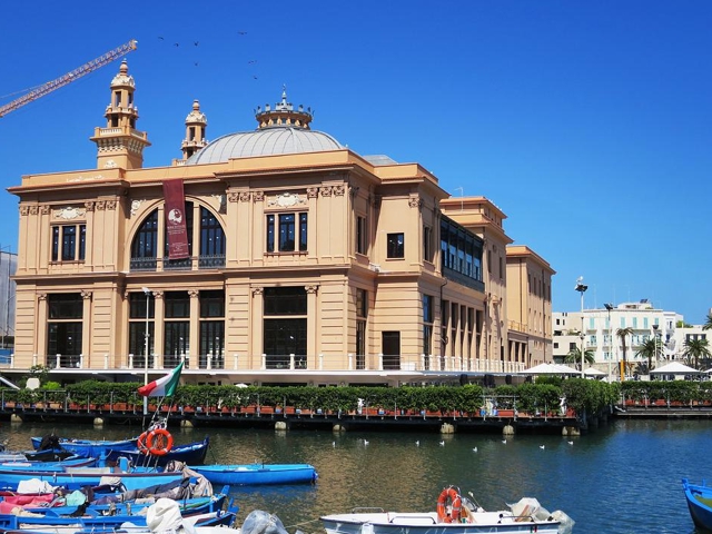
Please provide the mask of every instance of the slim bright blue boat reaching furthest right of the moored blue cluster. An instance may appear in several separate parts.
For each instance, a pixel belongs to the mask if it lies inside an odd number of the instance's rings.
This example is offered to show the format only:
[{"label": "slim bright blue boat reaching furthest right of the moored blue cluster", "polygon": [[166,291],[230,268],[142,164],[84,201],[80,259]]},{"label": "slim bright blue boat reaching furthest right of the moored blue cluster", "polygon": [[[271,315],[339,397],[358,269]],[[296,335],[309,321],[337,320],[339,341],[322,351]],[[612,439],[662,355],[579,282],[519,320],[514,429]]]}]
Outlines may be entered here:
[{"label": "slim bright blue boat reaching furthest right of the moored blue cluster", "polygon": [[214,464],[190,465],[189,468],[212,484],[231,486],[314,483],[318,477],[309,464]]}]

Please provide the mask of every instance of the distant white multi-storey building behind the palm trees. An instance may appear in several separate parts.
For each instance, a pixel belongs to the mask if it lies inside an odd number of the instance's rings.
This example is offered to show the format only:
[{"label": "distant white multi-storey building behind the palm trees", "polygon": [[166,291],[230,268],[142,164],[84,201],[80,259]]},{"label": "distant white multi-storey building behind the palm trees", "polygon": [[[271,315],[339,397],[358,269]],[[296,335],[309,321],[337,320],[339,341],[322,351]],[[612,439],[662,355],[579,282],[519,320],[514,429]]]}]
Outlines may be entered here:
[{"label": "distant white multi-storey building behind the palm trees", "polygon": [[[623,343],[616,335],[621,328],[631,328],[632,335],[625,342],[625,359],[629,363],[641,363],[636,357],[639,347],[649,339],[657,337],[663,346],[665,360],[682,359],[684,350],[683,332],[678,328],[682,315],[653,307],[647,299],[637,303],[606,304],[602,309],[584,309],[582,312],[552,314],[553,319],[553,356],[554,362],[562,363],[572,348],[581,348],[593,353],[593,367],[611,373],[617,378],[617,364],[623,359]],[[702,334],[702,327],[695,327]],[[653,363],[655,365],[655,363]]]}]

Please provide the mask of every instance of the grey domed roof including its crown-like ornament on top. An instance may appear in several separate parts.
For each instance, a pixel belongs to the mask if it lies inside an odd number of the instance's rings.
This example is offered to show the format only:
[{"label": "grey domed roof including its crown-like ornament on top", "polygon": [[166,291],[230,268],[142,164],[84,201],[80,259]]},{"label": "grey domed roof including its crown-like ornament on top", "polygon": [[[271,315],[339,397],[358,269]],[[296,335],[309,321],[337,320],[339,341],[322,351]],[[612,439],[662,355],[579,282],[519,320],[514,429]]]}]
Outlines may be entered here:
[{"label": "grey domed roof including its crown-like ornament on top", "polygon": [[312,109],[294,110],[283,92],[274,109],[257,108],[259,127],[254,131],[228,134],[194,154],[186,165],[219,164],[234,158],[276,156],[283,154],[319,152],[344,147],[328,134],[309,129]]}]

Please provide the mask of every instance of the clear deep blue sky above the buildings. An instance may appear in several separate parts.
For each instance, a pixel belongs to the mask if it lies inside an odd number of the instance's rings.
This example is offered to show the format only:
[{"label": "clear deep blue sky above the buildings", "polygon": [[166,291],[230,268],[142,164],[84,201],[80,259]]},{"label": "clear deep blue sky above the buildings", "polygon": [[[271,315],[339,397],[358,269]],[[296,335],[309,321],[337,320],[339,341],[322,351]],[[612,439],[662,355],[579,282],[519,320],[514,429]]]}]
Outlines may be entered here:
[{"label": "clear deep blue sky above the buildings", "polygon": [[[554,310],[650,299],[712,307],[712,2],[16,2],[0,18],[0,105],[137,39],[128,56],[145,166],[180,156],[199,99],[208,138],[279,100],[362,155],[483,195],[557,271]],[[196,46],[197,42],[197,46]],[[178,46],[176,46],[176,43]],[[3,189],[91,169],[119,62],[0,119]],[[459,189],[462,188],[462,189]],[[17,198],[0,192],[0,246]]]}]

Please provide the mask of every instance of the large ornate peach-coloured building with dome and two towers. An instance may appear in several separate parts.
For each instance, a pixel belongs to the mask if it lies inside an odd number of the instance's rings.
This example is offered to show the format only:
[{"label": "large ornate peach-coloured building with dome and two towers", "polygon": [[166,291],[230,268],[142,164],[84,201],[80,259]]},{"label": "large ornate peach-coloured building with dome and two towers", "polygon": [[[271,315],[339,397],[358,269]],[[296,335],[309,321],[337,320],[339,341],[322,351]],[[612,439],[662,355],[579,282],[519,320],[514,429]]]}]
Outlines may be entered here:
[{"label": "large ornate peach-coloured building with dome and two towers", "polygon": [[[551,360],[553,270],[510,247],[487,199],[354,152],[284,93],[256,130],[211,142],[194,102],[182,158],[144,168],[135,89],[123,61],[91,137],[96,169],[9,189],[20,231],[4,374],[140,380],[185,359],[188,383],[393,385]],[[517,263],[541,291],[510,286]]]}]

